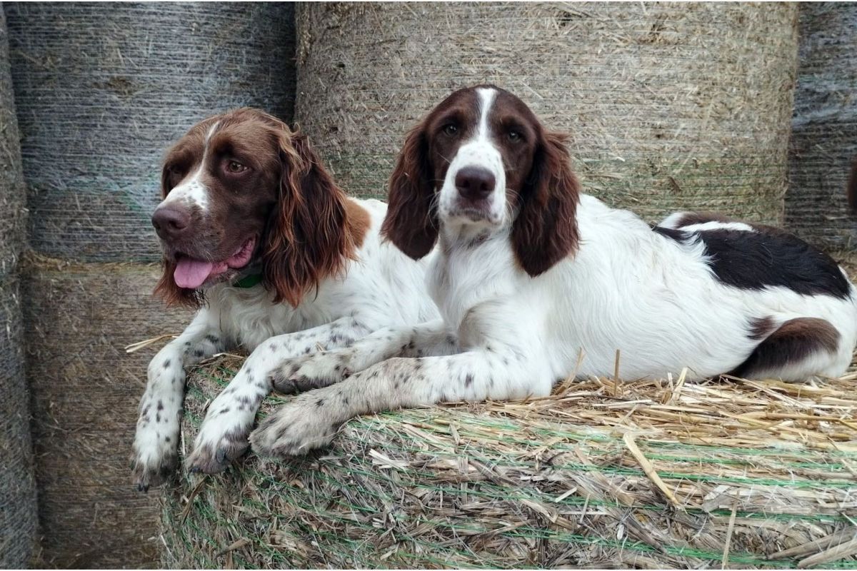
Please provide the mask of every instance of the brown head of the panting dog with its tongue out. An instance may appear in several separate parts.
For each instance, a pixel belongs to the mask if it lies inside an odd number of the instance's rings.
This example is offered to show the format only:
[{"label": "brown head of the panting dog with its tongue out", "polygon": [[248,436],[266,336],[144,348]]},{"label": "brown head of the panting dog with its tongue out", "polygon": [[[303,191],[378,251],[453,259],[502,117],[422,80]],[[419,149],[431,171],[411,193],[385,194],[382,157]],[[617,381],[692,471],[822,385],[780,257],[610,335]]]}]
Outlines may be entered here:
[{"label": "brown head of the panting dog with its tongue out", "polygon": [[197,305],[214,284],[258,272],[275,300],[297,306],[362,239],[306,138],[260,110],[197,123],[167,153],[161,181],[155,291],[168,303]]}]

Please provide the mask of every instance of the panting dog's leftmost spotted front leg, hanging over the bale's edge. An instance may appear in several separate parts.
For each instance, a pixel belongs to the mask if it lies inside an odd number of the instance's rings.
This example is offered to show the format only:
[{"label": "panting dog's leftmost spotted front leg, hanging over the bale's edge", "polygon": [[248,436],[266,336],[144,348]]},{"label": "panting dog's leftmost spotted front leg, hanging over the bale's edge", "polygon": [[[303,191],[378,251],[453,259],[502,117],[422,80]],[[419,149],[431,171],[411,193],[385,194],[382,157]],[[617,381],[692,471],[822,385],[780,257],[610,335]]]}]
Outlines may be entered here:
[{"label": "panting dog's leftmost spotted front leg, hanging over the bale's edge", "polygon": [[197,314],[181,336],[149,363],[134,437],[134,484],[139,491],[168,479],[178,463],[177,446],[184,399],[184,367],[223,348],[220,331],[207,312]]}]

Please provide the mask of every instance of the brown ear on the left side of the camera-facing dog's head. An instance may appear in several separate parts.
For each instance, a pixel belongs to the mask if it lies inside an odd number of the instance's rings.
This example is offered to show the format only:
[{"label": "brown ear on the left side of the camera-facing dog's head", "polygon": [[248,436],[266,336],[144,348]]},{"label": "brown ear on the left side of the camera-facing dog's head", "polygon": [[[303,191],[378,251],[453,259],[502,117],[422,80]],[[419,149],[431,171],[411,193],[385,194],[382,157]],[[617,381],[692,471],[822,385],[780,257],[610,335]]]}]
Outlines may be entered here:
[{"label": "brown ear on the left side of the camera-facing dog's head", "polygon": [[413,128],[390,176],[387,217],[381,234],[402,252],[420,259],[437,241],[438,219],[433,207],[434,181],[423,125]]}]

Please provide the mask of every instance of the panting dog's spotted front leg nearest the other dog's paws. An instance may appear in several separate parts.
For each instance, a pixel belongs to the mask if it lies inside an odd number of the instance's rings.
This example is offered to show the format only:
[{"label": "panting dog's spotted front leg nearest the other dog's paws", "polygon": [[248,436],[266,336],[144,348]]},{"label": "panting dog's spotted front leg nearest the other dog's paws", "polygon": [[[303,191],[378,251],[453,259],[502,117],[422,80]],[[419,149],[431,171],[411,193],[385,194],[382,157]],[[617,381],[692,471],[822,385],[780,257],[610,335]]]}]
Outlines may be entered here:
[{"label": "panting dog's spotted front leg nearest the other dog's paws", "polygon": [[312,354],[320,347],[344,347],[367,331],[359,319],[341,318],[263,342],[208,407],[194,449],[185,461],[188,469],[191,472],[219,473],[244,453],[249,446],[247,437],[259,405],[271,391],[271,372],[283,360]]}]

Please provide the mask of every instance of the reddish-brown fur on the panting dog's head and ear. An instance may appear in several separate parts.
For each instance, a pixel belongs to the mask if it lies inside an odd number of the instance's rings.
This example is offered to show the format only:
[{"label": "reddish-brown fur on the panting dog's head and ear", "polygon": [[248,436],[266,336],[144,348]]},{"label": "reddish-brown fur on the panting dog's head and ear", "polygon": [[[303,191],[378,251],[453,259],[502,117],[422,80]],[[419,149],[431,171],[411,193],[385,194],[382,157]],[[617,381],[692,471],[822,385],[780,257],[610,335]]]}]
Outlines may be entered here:
[{"label": "reddish-brown fur on the panting dog's head and ear", "polygon": [[[297,306],[309,289],[343,271],[354,259],[369,225],[369,214],[351,205],[301,134],[260,110],[241,109],[214,116],[191,128],[165,159],[162,196],[200,164],[205,136],[214,122],[207,157],[242,153],[254,167],[253,178],[231,181],[213,164],[204,175],[212,206],[211,220],[195,218],[213,236],[206,259],[223,259],[240,246],[230,240],[258,234],[262,283],[277,302]],[[207,160],[215,160],[207,158]],[[235,213],[239,212],[239,216]],[[194,213],[198,216],[198,213]],[[353,216],[353,220],[350,219]],[[155,292],[168,304],[198,306],[201,291],[178,288],[173,279],[175,260],[165,252],[164,273]]]}]

